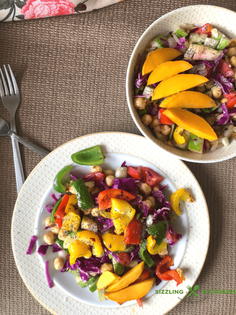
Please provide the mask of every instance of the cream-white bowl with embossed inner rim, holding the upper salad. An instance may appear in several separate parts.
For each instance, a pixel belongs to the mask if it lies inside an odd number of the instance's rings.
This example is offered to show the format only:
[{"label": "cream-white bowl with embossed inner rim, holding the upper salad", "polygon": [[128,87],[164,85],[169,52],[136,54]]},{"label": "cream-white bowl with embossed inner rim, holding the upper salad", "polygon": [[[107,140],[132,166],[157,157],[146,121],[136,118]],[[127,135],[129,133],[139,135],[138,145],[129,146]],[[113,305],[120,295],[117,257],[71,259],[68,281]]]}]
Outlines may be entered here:
[{"label": "cream-white bowl with embossed inner rim, holding the upper salad", "polygon": [[139,38],[130,57],[126,75],[126,98],[132,118],[142,134],[157,145],[161,150],[182,160],[198,163],[213,163],[227,160],[236,156],[236,142],[233,140],[228,147],[222,147],[214,152],[203,154],[183,151],[166,145],[158,140],[148,126],[145,126],[133,105],[133,86],[135,67],[138,55],[143,54],[147,44],[157,35],[166,34],[181,24],[204,25],[210,23],[221,30],[229,38],[236,37],[236,13],[228,9],[212,5],[193,5],[171,11],[152,23]]}]

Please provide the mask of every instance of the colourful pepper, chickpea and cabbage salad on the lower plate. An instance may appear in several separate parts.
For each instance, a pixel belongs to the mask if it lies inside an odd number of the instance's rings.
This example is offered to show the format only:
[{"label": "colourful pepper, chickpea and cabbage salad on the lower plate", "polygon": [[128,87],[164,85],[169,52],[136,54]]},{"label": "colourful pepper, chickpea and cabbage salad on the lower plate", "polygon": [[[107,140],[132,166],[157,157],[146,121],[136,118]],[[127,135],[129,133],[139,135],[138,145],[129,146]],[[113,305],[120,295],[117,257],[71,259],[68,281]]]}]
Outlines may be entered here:
[{"label": "colourful pepper, chickpea and cabbage salad on the lower plate", "polygon": [[[114,171],[102,169],[100,146],[76,152],[71,159],[91,165],[91,172],[77,178],[68,165],[56,175],[53,187],[59,196],[52,193],[54,202],[46,206],[50,215],[38,254],[46,255],[52,246],[59,255],[54,267],[74,274],[79,286],[98,292],[100,301],[137,300],[142,306],[140,299],[161,280],[181,284],[183,271],[170,270],[168,248],[182,237],[173,223],[181,214],[179,200],[193,202],[190,194],[179,189],[165,200],[164,177],[148,167],[124,162]],[[27,254],[36,239],[32,237]],[[48,260],[45,269],[52,287]]]}]

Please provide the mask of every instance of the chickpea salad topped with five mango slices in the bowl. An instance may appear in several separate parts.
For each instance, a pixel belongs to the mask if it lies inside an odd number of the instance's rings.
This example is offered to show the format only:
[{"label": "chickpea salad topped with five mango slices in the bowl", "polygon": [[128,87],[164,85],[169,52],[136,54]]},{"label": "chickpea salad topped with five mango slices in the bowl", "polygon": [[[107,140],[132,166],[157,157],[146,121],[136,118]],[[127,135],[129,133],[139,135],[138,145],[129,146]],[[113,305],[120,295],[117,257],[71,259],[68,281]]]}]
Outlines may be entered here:
[{"label": "chickpea salad topped with five mango slices in the bowl", "polygon": [[182,150],[229,146],[236,139],[236,38],[209,23],[185,24],[158,35],[145,50],[134,87],[144,125]]}]

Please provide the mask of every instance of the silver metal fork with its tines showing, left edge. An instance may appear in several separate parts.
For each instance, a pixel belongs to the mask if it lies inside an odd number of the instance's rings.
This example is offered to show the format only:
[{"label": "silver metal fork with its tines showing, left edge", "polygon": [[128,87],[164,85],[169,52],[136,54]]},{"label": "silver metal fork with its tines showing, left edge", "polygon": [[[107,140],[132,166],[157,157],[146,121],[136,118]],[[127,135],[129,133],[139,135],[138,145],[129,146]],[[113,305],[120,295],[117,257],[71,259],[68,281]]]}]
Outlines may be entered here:
[{"label": "silver metal fork with its tines showing, left edge", "polygon": [[[11,75],[14,90],[12,87],[10,77],[8,75],[7,68],[4,65],[10,93],[8,91],[8,86],[3,76],[2,69],[0,67],[1,77],[3,80],[3,84],[2,84],[1,79],[0,79],[0,95],[3,101],[3,105],[5,106],[8,113],[10,114],[11,131],[16,133],[15,112],[17,110],[18,105],[20,104],[20,92],[19,92],[16,80],[15,80],[14,74],[11,70],[11,67],[9,65],[8,67],[10,70],[10,75]],[[4,85],[5,93],[4,93],[3,85]],[[19,143],[13,138],[12,138],[12,148],[13,148],[14,165],[15,165],[16,187],[17,187],[17,192],[19,194],[25,182],[25,178],[24,178],[24,172],[23,172],[23,167],[22,167],[22,162],[21,162],[21,157],[20,157]]]}]

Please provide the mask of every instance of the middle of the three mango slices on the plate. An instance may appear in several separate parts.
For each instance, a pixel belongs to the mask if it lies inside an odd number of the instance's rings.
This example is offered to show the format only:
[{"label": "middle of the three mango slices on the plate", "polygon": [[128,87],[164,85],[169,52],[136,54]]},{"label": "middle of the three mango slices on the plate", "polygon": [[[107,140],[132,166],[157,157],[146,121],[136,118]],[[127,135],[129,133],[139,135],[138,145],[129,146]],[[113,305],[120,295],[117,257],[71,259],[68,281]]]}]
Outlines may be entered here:
[{"label": "middle of the three mango slices on the plate", "polygon": [[130,269],[128,272],[126,272],[117,282],[110,285],[106,289],[107,292],[113,292],[118,291],[123,288],[126,288],[129,284],[134,282],[138,277],[141,275],[144,269],[144,261],[140,262],[137,266]]}]

